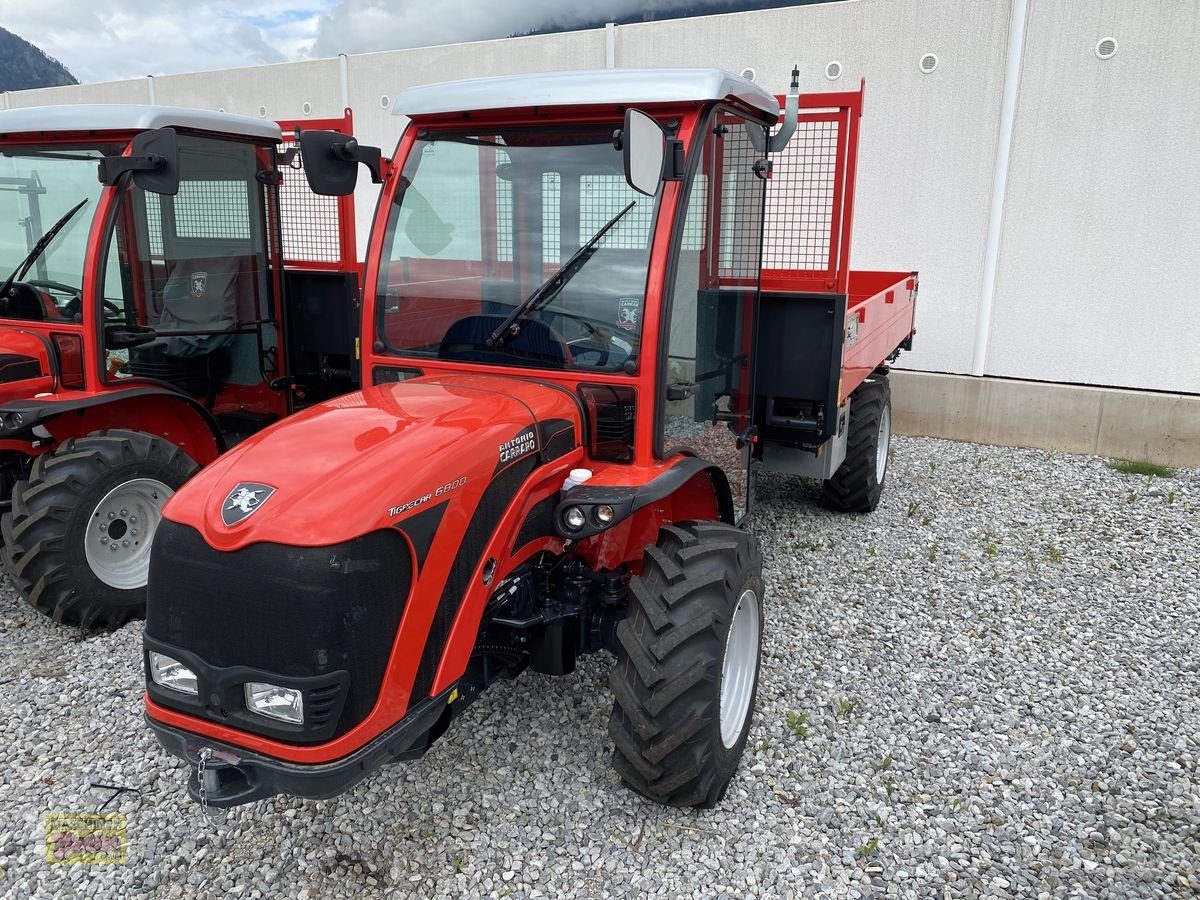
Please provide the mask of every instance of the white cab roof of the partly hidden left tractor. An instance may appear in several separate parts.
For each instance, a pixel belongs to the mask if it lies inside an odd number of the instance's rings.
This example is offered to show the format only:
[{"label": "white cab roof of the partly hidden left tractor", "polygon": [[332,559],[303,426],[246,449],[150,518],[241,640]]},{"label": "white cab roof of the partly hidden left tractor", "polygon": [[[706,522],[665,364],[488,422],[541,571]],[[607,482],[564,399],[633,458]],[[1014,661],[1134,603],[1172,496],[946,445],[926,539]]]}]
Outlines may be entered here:
[{"label": "white cab roof of the partly hidden left tractor", "polygon": [[269,119],[215,113],[186,107],[133,103],[72,103],[0,110],[0,134],[62,131],[151,131],[178,127],[196,131],[266,138],[278,142],[280,126]]}]

